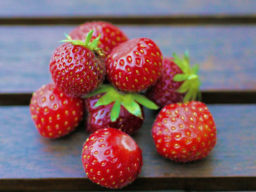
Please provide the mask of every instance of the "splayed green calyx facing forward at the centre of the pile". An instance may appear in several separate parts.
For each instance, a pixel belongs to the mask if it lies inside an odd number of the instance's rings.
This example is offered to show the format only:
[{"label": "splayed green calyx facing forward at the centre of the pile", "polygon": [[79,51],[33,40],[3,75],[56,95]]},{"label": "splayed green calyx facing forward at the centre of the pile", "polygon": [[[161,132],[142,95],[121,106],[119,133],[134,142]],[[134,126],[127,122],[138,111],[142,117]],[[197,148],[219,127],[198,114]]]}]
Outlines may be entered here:
[{"label": "splayed green calyx facing forward at the centre of the pile", "polygon": [[[139,93],[124,93],[117,91],[112,85],[110,84],[101,84],[98,89],[89,94],[84,95],[82,98],[89,98],[94,95],[106,93],[95,103],[93,108],[96,108],[101,105],[108,105],[112,102],[115,102],[111,111],[110,111],[110,120],[112,122],[116,121],[119,116],[121,105],[129,111],[132,115],[137,117],[142,117],[142,112],[140,105],[143,105],[149,109],[158,109],[159,107],[152,101],[148,100],[145,96]],[[139,103],[139,104],[138,104]]]}]

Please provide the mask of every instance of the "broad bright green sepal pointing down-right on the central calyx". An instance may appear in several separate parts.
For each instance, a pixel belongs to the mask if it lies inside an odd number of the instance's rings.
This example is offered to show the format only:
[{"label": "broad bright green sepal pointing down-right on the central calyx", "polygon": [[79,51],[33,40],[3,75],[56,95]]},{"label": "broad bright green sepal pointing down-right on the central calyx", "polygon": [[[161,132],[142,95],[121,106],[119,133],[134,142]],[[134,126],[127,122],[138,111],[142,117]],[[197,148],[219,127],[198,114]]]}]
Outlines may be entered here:
[{"label": "broad bright green sepal pointing down-right on the central calyx", "polygon": [[137,117],[142,117],[140,105],[132,99],[131,95],[125,95],[126,99],[122,100],[122,105],[127,109],[132,115]]}]

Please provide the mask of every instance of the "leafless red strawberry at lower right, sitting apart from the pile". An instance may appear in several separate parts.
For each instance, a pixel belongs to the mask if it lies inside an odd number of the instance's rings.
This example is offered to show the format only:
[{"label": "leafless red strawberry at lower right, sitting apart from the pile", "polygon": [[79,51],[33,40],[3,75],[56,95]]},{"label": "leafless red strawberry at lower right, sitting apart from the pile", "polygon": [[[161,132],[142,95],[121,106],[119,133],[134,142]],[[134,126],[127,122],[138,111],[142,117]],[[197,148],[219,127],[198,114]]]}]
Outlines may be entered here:
[{"label": "leafless red strawberry at lower right, sitting apart from the pile", "polygon": [[157,152],[176,162],[189,162],[208,155],[216,144],[216,127],[204,103],[166,105],[152,127]]}]

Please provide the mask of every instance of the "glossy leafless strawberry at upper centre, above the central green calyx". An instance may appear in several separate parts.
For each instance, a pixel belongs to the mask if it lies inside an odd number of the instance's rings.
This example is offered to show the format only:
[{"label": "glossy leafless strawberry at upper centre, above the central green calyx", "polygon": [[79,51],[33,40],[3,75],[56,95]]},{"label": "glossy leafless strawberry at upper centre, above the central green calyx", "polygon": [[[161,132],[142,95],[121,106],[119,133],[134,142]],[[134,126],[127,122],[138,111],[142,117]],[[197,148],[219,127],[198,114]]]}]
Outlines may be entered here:
[{"label": "glossy leafless strawberry at upper centre, above the central green calyx", "polygon": [[108,80],[119,90],[141,92],[161,75],[162,53],[148,38],[135,38],[114,47],[106,61]]}]

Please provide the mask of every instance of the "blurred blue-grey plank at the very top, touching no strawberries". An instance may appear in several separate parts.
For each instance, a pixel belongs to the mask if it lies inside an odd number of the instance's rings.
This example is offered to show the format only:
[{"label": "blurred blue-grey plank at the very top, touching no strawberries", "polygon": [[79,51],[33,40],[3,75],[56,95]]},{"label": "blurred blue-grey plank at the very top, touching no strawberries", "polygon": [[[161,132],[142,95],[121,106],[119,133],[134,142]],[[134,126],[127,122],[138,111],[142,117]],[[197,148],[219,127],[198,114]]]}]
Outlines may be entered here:
[{"label": "blurred blue-grey plank at the very top, touching no strawberries", "polygon": [[255,10],[253,0],[2,0],[0,17],[250,15]]}]

